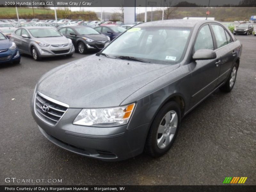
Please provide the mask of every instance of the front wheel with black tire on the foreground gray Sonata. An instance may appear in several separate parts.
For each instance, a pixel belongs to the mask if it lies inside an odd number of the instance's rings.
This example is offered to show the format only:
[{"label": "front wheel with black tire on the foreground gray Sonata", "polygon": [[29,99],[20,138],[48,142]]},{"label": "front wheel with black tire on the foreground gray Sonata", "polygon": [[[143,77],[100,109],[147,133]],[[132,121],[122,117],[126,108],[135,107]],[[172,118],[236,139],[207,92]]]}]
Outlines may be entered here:
[{"label": "front wheel with black tire on the foreground gray Sonata", "polygon": [[[145,151],[148,155],[159,157],[171,148],[179,130],[180,119],[180,106],[175,101],[166,103],[159,110],[151,124],[145,144]],[[167,122],[170,123],[167,124]]]}]

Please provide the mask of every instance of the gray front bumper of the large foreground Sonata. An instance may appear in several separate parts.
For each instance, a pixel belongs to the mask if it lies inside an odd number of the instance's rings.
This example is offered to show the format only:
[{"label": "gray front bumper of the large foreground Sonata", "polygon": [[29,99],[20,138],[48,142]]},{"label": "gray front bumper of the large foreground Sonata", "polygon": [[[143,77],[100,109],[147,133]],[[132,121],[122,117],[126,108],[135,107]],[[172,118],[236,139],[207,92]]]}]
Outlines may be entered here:
[{"label": "gray front bumper of the large foreground Sonata", "polygon": [[38,116],[35,98],[31,100],[32,115],[40,132],[57,146],[79,155],[104,161],[120,161],[143,152],[149,124],[132,130],[127,125],[118,127],[89,127],[74,125],[72,122],[81,111],[68,108],[59,122],[49,125]]}]

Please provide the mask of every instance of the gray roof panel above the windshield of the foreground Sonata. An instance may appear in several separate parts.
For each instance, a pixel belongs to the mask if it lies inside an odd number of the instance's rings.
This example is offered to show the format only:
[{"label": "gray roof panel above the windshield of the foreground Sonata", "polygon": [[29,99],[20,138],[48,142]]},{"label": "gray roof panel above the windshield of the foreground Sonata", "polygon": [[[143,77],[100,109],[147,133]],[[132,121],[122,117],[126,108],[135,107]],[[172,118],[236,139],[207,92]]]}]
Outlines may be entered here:
[{"label": "gray roof panel above the windshield of the foreground Sonata", "polygon": [[186,20],[186,19],[175,19],[175,20],[160,20],[146,23],[140,23],[140,27],[194,27],[197,24],[204,24],[208,22],[216,22],[214,20]]}]

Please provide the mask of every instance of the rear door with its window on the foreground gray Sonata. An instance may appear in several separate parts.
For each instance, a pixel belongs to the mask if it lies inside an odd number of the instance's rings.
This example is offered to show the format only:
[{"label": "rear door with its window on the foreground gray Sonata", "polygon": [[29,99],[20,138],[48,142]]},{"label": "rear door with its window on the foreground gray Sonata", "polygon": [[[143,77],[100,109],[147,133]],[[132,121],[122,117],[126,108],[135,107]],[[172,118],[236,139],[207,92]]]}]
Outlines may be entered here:
[{"label": "rear door with its window on the foreground gray Sonata", "polygon": [[236,57],[236,49],[232,46],[229,33],[221,25],[212,24],[214,39],[216,40],[216,54],[221,57],[220,75],[217,84],[221,84],[227,77]]}]

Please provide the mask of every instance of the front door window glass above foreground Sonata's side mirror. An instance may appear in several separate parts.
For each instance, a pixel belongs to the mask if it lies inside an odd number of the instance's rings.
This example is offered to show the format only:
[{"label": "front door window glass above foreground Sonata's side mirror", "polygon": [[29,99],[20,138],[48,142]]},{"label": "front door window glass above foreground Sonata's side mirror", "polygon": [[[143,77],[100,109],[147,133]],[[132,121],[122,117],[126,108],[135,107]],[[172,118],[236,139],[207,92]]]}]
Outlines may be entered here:
[{"label": "front door window glass above foreground Sonata's side mirror", "polygon": [[213,50],[213,40],[209,25],[202,27],[196,37],[196,43],[194,46],[195,51],[199,49],[211,49]]}]

